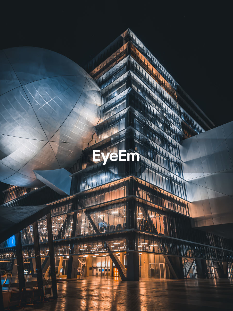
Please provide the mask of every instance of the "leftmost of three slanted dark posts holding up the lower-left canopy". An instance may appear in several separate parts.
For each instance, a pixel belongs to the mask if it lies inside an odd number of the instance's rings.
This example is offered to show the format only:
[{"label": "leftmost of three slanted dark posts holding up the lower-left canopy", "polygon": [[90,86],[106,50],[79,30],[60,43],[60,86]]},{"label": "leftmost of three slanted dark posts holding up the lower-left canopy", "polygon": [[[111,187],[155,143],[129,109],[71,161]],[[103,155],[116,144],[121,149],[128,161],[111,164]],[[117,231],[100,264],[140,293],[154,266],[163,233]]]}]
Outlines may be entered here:
[{"label": "leftmost of three slanted dark posts holding up the lower-left canopy", "polygon": [[15,249],[16,249],[19,290],[22,290],[23,288],[26,287],[26,285],[25,285],[25,278],[24,278],[24,261],[23,261],[22,242],[21,242],[20,232],[15,234]]}]

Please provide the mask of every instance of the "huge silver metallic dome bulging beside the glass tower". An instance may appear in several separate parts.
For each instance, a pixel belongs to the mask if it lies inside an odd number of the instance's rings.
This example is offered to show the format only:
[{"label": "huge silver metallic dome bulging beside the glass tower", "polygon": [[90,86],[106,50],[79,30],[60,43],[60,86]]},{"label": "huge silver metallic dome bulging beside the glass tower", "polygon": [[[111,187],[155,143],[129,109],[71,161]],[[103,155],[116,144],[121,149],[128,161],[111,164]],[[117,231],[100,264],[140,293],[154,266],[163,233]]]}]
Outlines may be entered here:
[{"label": "huge silver metallic dome bulging beside the glass tower", "polygon": [[91,139],[101,96],[76,63],[53,51],[0,51],[0,181],[41,184],[33,170],[71,167]]}]

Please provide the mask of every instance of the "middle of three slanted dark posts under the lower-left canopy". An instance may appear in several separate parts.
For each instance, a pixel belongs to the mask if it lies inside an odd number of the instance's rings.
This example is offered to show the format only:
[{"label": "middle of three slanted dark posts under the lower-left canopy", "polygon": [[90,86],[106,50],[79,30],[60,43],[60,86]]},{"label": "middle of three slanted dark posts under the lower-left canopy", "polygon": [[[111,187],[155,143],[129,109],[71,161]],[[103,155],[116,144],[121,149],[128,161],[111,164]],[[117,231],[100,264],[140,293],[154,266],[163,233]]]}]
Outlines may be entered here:
[{"label": "middle of three slanted dark posts under the lower-left canopy", "polygon": [[32,224],[33,229],[33,239],[34,239],[34,252],[35,252],[35,262],[36,262],[36,277],[37,285],[43,286],[43,276],[42,276],[42,267],[41,267],[41,258],[40,258],[40,242],[39,242],[39,231],[38,231],[38,222],[35,221]]}]

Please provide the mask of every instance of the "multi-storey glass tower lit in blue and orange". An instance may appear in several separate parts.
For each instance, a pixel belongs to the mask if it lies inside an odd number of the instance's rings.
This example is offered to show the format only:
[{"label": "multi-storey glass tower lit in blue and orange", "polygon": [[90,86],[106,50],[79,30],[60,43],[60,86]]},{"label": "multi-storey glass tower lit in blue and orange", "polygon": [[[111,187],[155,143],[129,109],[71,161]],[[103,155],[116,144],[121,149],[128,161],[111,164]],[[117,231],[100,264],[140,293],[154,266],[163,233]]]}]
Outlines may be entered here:
[{"label": "multi-storey glass tower lit in blue and orange", "polygon": [[[11,187],[4,206],[51,204],[56,267],[68,278],[74,267],[122,280],[232,277],[232,240],[195,227],[184,178],[182,141],[214,124],[129,29],[85,69],[101,90],[101,114],[69,170],[70,193]],[[93,150],[133,151],[140,159],[103,165],[93,162]],[[38,226],[46,273],[46,218]],[[21,238],[32,267],[31,226]],[[15,258],[10,243],[1,245],[2,260]]]}]

